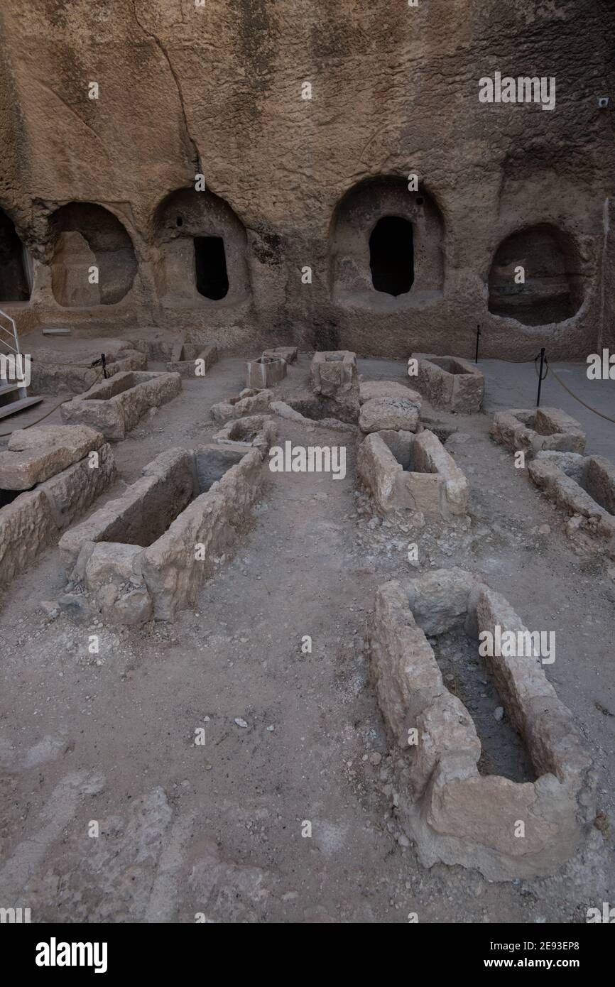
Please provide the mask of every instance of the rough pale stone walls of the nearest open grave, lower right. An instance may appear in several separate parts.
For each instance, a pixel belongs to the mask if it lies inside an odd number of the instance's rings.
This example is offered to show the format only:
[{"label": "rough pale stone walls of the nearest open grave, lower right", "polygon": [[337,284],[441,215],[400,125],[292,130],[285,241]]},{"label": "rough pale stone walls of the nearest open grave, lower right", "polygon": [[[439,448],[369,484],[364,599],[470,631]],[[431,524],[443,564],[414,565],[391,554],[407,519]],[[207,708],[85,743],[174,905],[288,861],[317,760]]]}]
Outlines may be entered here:
[{"label": "rough pale stone walls of the nearest open grave, lower right", "polygon": [[491,880],[510,880],[555,873],[577,853],[595,816],[596,774],[539,659],[503,656],[485,658],[486,670],[537,779],[516,783],[479,774],[474,722],[446,689],[425,635],[459,629],[478,639],[496,627],[526,631],[479,576],[439,569],[405,586],[379,587],[370,655],[380,709],[406,762],[399,813],[423,865],[460,864]]}]

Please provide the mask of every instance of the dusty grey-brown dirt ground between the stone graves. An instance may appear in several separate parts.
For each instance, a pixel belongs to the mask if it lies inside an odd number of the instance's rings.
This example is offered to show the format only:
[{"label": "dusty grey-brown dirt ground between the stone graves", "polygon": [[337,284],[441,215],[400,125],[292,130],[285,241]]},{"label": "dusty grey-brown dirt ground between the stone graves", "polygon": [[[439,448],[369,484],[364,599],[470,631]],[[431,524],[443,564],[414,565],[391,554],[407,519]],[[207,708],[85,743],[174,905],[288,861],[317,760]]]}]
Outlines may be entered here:
[{"label": "dusty grey-brown dirt ground between the stone graves", "polygon": [[[278,390],[304,386],[309,360]],[[115,444],[120,479],[96,506],[159,452],[207,441],[217,427],[209,408],[239,392],[244,367],[223,358],[204,380],[185,380]],[[354,434],[278,419],[282,442],[346,445],[346,479],[268,472],[248,537],[176,623],[119,631],[50,619],[39,604],[65,583],[56,549],[15,581],[0,609],[1,905],[30,907],[33,922],[382,923],[417,913],[420,922],[569,923],[615,900],[615,568],[578,559],[563,515],[489,438],[495,410],[531,407],[533,366],[482,367],[486,413],[423,403],[423,418],[457,429],[446,448],[470,481],[472,524],[424,529],[419,569],[408,562],[409,531],[374,519],[356,490]],[[589,386],[583,366],[561,369],[584,400],[613,407],[612,382]],[[359,371],[408,381],[402,362],[359,360]],[[588,452],[615,457],[615,425],[553,378],[543,393],[586,427]],[[602,814],[555,877],[493,883],[458,867],[425,870],[396,819],[364,645],[374,591],[449,566],[484,575],[528,627],[556,631],[546,673],[595,754]],[[306,635],[312,653],[302,652]],[[487,690],[479,700],[497,703]],[[194,744],[199,727],[204,745]],[[498,758],[494,732],[486,744]],[[512,754],[511,770],[524,770],[522,752]]]}]

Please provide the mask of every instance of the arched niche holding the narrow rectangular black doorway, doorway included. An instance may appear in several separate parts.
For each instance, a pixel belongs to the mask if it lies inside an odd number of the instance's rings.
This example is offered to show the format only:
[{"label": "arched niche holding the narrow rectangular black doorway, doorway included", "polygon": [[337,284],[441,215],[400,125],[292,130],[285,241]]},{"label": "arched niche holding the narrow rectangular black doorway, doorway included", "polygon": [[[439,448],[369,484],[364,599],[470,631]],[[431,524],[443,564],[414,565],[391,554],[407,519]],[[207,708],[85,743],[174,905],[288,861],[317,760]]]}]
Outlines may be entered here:
[{"label": "arched niche holding the narrow rectangular black doorway, doorway included", "polygon": [[246,230],[218,195],[171,192],[156,209],[154,235],[158,290],[165,304],[232,306],[249,297]]}]

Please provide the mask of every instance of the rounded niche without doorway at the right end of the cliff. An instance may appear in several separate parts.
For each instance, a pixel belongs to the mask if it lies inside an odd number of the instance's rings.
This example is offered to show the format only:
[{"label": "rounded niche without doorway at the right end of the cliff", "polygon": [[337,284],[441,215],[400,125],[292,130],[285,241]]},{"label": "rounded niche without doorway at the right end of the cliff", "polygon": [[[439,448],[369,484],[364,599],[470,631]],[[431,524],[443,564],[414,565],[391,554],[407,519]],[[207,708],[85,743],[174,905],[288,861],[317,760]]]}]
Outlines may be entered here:
[{"label": "rounded niche without doorway at the right end of the cliff", "polygon": [[550,223],[517,230],[496,252],[489,273],[489,310],[523,326],[564,322],[583,301],[579,271],[570,234]]}]

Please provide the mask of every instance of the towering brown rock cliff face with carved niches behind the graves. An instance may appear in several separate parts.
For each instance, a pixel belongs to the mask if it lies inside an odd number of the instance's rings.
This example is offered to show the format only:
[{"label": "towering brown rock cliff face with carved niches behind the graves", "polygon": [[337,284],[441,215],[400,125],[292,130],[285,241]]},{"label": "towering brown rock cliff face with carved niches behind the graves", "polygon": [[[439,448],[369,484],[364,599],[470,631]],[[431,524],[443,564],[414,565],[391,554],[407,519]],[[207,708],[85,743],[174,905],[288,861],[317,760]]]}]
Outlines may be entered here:
[{"label": "towering brown rock cliff face with carved niches behind the graves", "polygon": [[[615,91],[611,16],[595,0],[477,0],[471,14],[467,0],[311,11],[299,0],[136,0],[110,5],[102,20],[96,4],[5,0],[0,206],[36,260],[22,327],[155,323],[244,353],[283,342],[470,356],[477,322],[486,357],[532,359],[537,336],[554,359],[586,355],[601,331],[607,345],[612,232],[604,313],[600,259],[615,198],[609,111],[596,96]],[[504,66],[515,77],[555,76],[555,112],[481,103],[480,77]],[[196,174],[212,191],[192,192]],[[71,214],[61,235],[82,238],[79,269],[94,255],[100,298],[60,264],[58,202],[80,206],[83,222]],[[85,203],[101,203],[128,243],[112,226],[97,243]],[[413,228],[414,281],[400,294],[376,289],[370,270],[370,235],[387,216]],[[196,287],[195,257],[214,245],[194,240],[216,237],[229,281],[221,298],[223,284]],[[535,285],[545,245],[557,265]],[[526,285],[515,285],[526,258]],[[539,333],[520,321],[535,287],[570,297],[570,320],[543,305]],[[528,304],[494,305],[510,296]],[[497,314],[506,309],[519,319]]]}]

